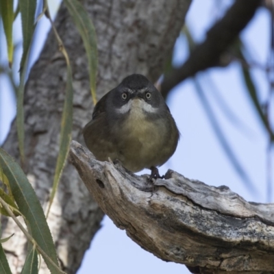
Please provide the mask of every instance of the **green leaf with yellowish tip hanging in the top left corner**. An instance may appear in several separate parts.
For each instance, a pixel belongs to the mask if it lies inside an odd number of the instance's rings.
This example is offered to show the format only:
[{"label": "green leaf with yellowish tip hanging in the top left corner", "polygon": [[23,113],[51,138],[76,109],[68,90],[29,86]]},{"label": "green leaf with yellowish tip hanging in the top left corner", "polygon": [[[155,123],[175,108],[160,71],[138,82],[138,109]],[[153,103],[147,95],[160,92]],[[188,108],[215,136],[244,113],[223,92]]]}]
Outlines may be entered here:
[{"label": "green leaf with yellowish tip hanging in the top left corner", "polygon": [[5,38],[7,41],[8,49],[8,62],[10,67],[12,66],[13,59],[13,42],[12,42],[12,24],[14,20],[13,14],[13,1],[1,0],[0,1],[1,17],[3,21],[3,28],[5,31]]}]

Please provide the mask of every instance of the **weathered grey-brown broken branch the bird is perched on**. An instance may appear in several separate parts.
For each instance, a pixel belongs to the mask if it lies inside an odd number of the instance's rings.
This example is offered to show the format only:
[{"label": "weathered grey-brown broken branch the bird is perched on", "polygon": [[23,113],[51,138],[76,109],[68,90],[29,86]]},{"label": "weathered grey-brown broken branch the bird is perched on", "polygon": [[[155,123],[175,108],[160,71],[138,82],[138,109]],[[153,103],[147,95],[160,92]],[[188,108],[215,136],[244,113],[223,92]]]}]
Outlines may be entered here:
[{"label": "weathered grey-brown broken branch the bird is perched on", "polygon": [[274,203],[249,203],[174,171],[151,184],[75,141],[70,159],[103,212],[158,258],[195,273],[274,273]]}]

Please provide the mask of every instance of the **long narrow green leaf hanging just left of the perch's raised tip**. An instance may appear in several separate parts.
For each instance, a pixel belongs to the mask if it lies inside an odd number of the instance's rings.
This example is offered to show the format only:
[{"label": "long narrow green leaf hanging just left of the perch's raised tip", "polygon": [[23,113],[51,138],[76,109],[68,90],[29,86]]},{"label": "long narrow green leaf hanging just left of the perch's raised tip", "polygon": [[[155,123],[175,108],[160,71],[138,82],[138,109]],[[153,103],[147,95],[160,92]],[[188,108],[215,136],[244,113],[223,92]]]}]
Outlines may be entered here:
[{"label": "long narrow green leaf hanging just left of the perch's raised tip", "polygon": [[64,101],[64,110],[62,113],[61,134],[60,134],[60,150],[58,154],[57,164],[55,167],[55,174],[53,179],[53,187],[51,197],[49,198],[49,208],[47,216],[58,188],[58,182],[62,175],[66,158],[69,154],[69,146],[71,143],[71,132],[73,129],[73,77],[71,75],[71,66],[67,64],[67,79],[66,79],[66,99]]}]

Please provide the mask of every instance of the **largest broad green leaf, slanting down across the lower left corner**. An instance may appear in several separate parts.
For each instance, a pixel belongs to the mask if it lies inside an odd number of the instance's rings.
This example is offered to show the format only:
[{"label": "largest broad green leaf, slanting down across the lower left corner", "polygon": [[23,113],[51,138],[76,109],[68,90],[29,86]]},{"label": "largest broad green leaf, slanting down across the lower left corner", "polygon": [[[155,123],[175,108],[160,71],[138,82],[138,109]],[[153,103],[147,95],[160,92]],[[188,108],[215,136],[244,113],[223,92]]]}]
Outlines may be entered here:
[{"label": "largest broad green leaf, slanting down across the lower left corner", "polygon": [[[31,227],[32,237],[41,249],[45,251],[47,256],[58,266],[51,232],[49,231],[45,214],[32,185],[29,184],[21,167],[1,148],[0,166],[3,169],[3,173],[8,177],[12,195],[14,196],[18,209],[22,212],[27,224]],[[51,273],[59,273],[45,256],[43,256],[43,258]]]}]

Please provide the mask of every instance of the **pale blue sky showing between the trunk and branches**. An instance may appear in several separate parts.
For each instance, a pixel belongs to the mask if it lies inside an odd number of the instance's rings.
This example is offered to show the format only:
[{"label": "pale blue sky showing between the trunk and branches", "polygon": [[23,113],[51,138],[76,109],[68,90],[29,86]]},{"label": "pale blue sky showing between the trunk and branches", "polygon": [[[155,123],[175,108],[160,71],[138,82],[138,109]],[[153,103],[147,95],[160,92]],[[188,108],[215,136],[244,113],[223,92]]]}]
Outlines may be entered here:
[{"label": "pale blue sky showing between the trunk and branches", "polygon": [[[197,42],[205,38],[206,30],[216,18],[223,14],[225,9],[222,8],[221,2],[227,5],[232,3],[232,1],[216,0],[193,1],[186,23]],[[48,23],[45,22],[40,24],[41,29],[46,29],[48,26]],[[269,13],[260,9],[241,35],[242,40],[248,45],[249,51],[252,53],[253,61],[262,66],[266,64],[269,56],[269,23]],[[45,38],[39,40],[42,39]],[[1,41],[1,45],[3,45],[3,41]],[[38,46],[42,47],[42,45]],[[36,49],[36,56],[40,51],[38,48]],[[180,36],[175,45],[174,64],[182,64],[187,54],[186,40]],[[252,75],[256,80],[256,87],[260,90],[260,98],[265,99],[269,86],[264,71],[254,68]],[[247,201],[266,202],[267,197],[273,201],[273,189],[271,192],[266,190],[266,149],[268,142],[245,89],[240,74],[240,66],[232,63],[225,69],[210,69],[206,73],[199,73],[197,79],[208,95],[212,110],[223,128],[229,144],[251,177],[252,182],[256,185],[256,194],[252,194],[247,189],[227,159],[219,140],[212,131],[212,126],[202,108],[192,79],[187,79],[184,83],[179,84],[169,95],[167,103],[182,136],[177,151],[169,162],[160,167],[160,173],[165,173],[167,169],[173,169],[190,179],[199,179],[206,184],[229,186]],[[1,143],[8,132],[10,121],[15,114],[15,108],[12,96],[8,91],[7,81],[3,77],[0,78],[0,81],[2,90],[0,92]],[[216,93],[223,97],[245,127],[236,127],[227,119],[221,105],[216,100]],[[274,162],[273,152],[271,155],[272,162]],[[271,174],[274,178],[273,167],[272,164]],[[112,221],[105,217],[103,227],[96,234],[91,248],[86,252],[82,267],[77,272],[77,274],[86,273],[183,274],[189,272],[185,266],[162,262],[151,253],[141,249],[126,236],[125,231],[115,227]]]}]

